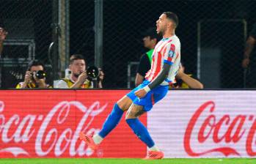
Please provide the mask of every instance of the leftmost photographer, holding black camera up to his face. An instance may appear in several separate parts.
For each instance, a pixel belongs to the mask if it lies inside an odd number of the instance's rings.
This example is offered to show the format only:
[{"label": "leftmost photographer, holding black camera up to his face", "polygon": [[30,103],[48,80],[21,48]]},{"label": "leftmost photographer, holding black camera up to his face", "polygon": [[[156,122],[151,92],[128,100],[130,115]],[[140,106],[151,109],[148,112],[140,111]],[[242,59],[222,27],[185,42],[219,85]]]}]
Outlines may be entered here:
[{"label": "leftmost photographer, holding black camera up to his face", "polygon": [[16,89],[51,88],[50,85],[45,83],[45,76],[46,74],[44,71],[43,63],[32,61],[29,63],[24,81],[21,83],[18,83],[18,85],[16,86]]}]

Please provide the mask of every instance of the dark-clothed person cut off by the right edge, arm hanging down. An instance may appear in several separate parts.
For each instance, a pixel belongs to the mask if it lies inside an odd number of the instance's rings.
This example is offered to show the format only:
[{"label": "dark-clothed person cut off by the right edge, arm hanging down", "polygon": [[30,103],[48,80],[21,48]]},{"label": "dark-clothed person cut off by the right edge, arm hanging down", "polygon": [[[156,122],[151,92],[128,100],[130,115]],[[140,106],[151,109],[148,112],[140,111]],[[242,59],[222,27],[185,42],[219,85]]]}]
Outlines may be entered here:
[{"label": "dark-clothed person cut off by the right edge, arm hanging down", "polygon": [[256,88],[256,23],[253,25],[252,31],[249,34],[249,37],[246,41],[245,50],[244,50],[244,60],[242,66],[244,69],[249,68],[248,78],[246,78],[247,86]]}]

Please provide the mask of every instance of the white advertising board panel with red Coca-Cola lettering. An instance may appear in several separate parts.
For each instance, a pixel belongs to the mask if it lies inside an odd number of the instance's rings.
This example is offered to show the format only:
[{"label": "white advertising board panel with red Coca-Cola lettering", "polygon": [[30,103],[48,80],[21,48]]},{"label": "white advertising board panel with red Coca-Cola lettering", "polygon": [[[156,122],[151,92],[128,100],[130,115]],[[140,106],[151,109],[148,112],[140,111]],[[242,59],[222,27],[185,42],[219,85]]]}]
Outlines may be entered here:
[{"label": "white advertising board panel with red Coca-Cola lettering", "polygon": [[256,91],[172,91],[147,129],[165,157],[255,158],[255,100]]}]

